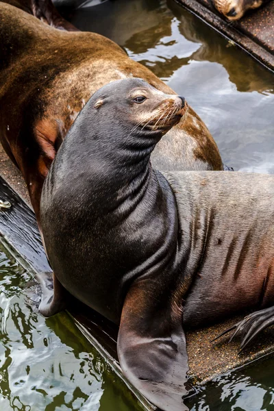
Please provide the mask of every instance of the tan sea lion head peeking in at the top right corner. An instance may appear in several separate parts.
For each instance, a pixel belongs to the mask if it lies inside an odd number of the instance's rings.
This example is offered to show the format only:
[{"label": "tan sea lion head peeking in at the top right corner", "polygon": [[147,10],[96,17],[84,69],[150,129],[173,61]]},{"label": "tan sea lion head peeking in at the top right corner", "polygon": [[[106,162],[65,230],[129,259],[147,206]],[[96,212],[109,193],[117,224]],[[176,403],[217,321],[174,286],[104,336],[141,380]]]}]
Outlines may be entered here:
[{"label": "tan sea lion head peeking in at the top right corner", "polygon": [[239,20],[248,9],[258,8],[262,0],[213,0],[216,9],[230,21]]}]

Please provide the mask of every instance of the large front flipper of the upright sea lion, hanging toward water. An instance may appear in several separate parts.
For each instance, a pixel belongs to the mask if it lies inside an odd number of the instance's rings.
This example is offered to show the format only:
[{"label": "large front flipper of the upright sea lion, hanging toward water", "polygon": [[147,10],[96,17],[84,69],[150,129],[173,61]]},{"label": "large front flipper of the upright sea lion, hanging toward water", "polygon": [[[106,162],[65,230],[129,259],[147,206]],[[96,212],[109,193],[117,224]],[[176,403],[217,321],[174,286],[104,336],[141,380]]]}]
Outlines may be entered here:
[{"label": "large front flipper of the upright sea lion, hanging toward water", "polygon": [[169,321],[155,295],[146,295],[146,284],[129,290],[118,336],[122,371],[134,387],[163,411],[188,411],[183,397],[188,371],[182,314]]}]

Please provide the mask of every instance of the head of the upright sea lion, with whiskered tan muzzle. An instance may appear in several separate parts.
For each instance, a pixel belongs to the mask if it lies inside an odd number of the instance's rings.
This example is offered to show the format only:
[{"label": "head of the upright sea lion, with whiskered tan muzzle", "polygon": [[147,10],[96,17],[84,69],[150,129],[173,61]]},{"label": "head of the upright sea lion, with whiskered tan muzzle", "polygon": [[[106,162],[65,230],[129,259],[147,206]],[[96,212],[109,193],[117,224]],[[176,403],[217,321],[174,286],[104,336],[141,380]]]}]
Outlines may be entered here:
[{"label": "head of the upright sea lion, with whiskered tan muzzle", "polygon": [[[184,97],[166,95],[143,79],[111,82],[97,90],[88,101],[90,115],[110,125],[121,140],[150,136],[154,143],[179,121],[184,121],[188,105]],[[95,126],[96,127],[96,126]]]}]

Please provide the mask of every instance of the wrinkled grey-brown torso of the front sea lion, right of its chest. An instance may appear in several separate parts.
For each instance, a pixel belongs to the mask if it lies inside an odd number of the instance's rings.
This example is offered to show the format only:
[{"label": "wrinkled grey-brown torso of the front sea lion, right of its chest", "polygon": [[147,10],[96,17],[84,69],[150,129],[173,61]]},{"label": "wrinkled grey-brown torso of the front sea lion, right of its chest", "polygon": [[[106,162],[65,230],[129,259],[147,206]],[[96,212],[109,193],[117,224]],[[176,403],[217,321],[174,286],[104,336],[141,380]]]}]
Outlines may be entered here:
[{"label": "wrinkled grey-brown torso of the front sea lion, right of its chest", "polygon": [[184,324],[200,327],[227,314],[273,304],[274,176],[164,176],[175,193],[180,241],[192,264]]}]

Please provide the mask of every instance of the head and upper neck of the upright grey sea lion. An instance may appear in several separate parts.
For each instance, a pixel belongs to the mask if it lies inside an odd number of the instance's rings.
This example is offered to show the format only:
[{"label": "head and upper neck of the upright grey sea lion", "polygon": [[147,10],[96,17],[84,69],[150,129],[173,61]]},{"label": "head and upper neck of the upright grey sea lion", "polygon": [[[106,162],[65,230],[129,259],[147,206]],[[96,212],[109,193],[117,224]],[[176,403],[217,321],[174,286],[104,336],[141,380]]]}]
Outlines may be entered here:
[{"label": "head and upper neck of the upright grey sea lion", "polygon": [[61,185],[63,180],[71,185],[73,179],[83,185],[83,175],[86,181],[94,179],[93,187],[99,190],[102,181],[116,179],[119,185],[119,178],[125,179],[125,167],[129,177],[145,169],[155,145],[184,121],[187,112],[184,97],[166,95],[142,79],[110,82],[79,112],[51,169]]}]

